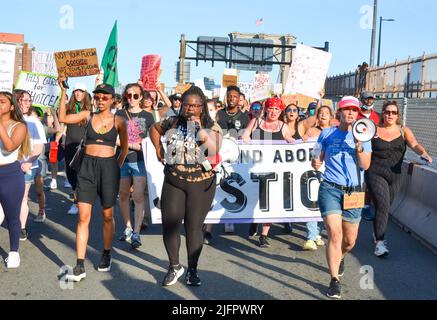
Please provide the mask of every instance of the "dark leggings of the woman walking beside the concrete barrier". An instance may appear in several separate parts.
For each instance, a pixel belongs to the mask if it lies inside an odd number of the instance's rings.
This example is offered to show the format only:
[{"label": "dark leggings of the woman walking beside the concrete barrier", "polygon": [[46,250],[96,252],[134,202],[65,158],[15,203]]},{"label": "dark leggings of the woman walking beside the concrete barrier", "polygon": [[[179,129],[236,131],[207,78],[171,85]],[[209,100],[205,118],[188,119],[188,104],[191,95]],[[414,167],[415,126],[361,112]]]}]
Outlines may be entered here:
[{"label": "dark leggings of the woman walking beside the concrete barrier", "polygon": [[366,172],[366,184],[376,209],[373,221],[375,238],[381,241],[387,229],[390,206],[401,186],[401,175],[390,168],[378,167]]}]

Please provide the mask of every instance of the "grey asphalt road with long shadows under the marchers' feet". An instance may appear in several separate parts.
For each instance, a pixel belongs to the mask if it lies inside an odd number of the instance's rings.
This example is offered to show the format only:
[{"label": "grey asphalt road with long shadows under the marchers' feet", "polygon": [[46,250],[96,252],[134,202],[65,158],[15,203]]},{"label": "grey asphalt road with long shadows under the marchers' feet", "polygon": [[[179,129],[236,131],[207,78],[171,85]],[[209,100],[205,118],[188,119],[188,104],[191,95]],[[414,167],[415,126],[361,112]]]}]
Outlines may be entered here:
[{"label": "grey asphalt road with long shadows under the marchers' feet", "polygon": [[[62,186],[63,181],[60,176],[58,186]],[[102,219],[98,206],[93,211],[90,226],[85,261],[87,278],[68,286],[58,279],[60,269],[73,266],[76,259],[77,216],[66,214],[71,204],[68,191],[62,187],[47,190],[48,219],[44,224],[32,221],[37,205],[31,192],[30,237],[20,243],[19,269],[5,267],[8,233],[0,229],[0,299],[327,299],[329,275],[325,250],[301,250],[305,235],[303,224],[294,224],[291,234],[286,234],[281,225],[274,225],[272,246],[267,249],[259,248],[256,239],[248,238],[248,225],[236,225],[234,234],[225,234],[223,225],[216,225],[214,242],[204,246],[199,261],[202,286],[188,287],[181,278],[176,285],[163,288],[161,281],[168,260],[161,226],[146,229],[141,235],[143,245],[133,250],[129,244],[118,241],[123,226],[117,209],[113,267],[109,273],[97,272],[102,250]],[[326,239],[326,234],[323,235]],[[434,253],[390,223],[387,231],[390,255],[380,259],[373,255],[371,235],[371,223],[363,221],[357,245],[346,258],[343,299],[437,299],[437,256]],[[180,257],[186,266],[184,240]]]}]

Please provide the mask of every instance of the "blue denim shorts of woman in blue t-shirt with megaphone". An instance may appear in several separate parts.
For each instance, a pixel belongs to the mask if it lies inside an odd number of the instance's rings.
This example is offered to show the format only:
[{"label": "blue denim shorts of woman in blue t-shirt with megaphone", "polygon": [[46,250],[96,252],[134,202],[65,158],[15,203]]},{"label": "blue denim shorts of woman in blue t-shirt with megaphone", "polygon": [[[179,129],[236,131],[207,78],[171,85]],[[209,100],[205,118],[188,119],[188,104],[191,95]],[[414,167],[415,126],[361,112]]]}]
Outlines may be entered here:
[{"label": "blue denim shorts of woman in blue t-shirt with megaphone", "polygon": [[339,214],[343,221],[353,224],[360,223],[362,208],[343,210],[344,191],[337,189],[325,182],[319,188],[319,208],[322,218],[331,214]]}]

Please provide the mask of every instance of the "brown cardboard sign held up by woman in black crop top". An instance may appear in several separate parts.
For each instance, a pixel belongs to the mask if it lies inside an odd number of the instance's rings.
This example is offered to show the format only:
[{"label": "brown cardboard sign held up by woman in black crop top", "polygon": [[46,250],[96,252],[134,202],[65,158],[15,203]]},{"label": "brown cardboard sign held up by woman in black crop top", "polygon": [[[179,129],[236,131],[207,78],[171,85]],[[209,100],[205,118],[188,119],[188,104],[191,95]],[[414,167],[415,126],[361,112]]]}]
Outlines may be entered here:
[{"label": "brown cardboard sign held up by woman in black crop top", "polygon": [[100,73],[95,48],[55,52],[55,61],[60,76],[85,77]]}]

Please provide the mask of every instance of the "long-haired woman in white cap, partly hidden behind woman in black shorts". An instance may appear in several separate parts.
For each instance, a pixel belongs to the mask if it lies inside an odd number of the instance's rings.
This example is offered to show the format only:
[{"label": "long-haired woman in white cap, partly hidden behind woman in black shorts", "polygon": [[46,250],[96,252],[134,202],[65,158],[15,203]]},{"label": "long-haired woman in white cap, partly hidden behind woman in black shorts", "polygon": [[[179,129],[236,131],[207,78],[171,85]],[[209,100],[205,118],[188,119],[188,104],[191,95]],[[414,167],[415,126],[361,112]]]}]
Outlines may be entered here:
[{"label": "long-haired woman in white cap, partly hidden behind woman in black shorts", "polygon": [[[93,106],[88,95],[87,87],[84,83],[77,82],[73,88],[73,94],[67,104],[67,115],[79,114],[84,111],[92,111]],[[70,162],[76,153],[76,149],[85,134],[86,121],[81,123],[67,123],[65,133],[65,173],[67,180],[73,190],[73,204],[68,209],[67,214],[77,215],[77,172],[70,167]]]}]

